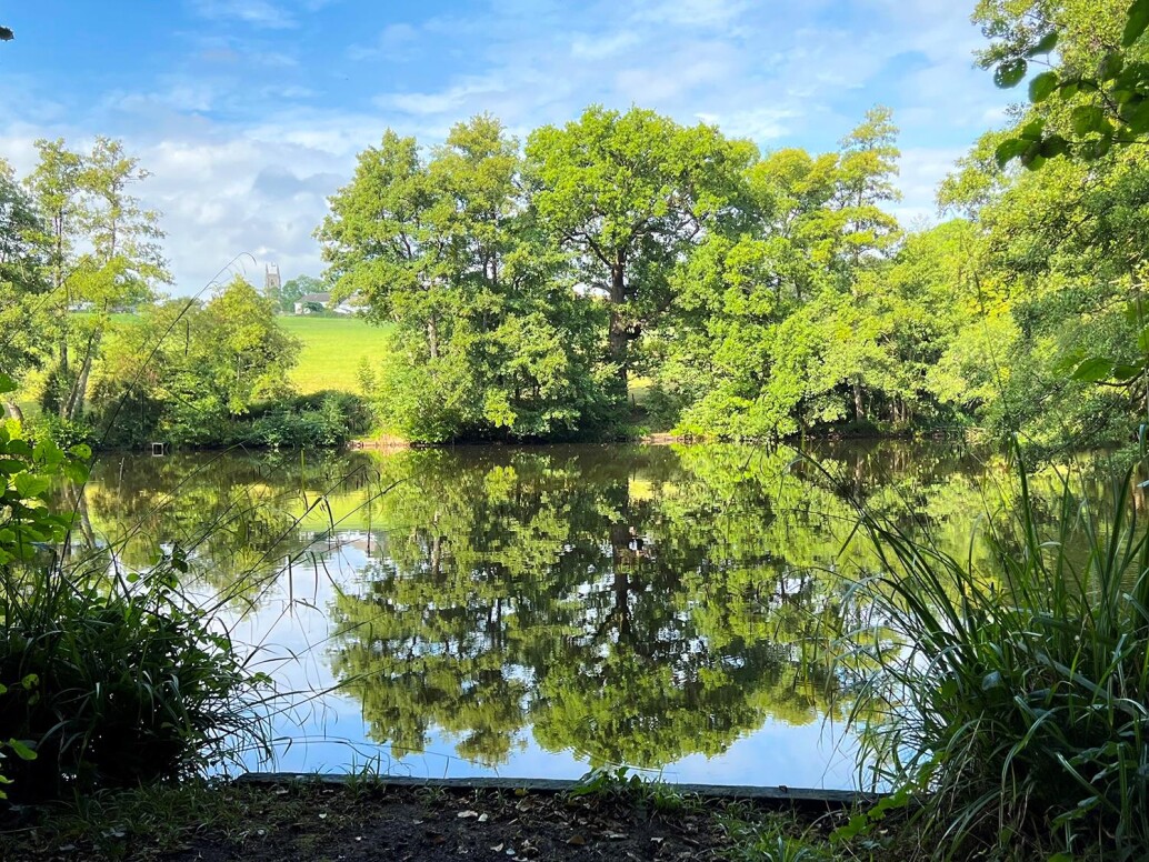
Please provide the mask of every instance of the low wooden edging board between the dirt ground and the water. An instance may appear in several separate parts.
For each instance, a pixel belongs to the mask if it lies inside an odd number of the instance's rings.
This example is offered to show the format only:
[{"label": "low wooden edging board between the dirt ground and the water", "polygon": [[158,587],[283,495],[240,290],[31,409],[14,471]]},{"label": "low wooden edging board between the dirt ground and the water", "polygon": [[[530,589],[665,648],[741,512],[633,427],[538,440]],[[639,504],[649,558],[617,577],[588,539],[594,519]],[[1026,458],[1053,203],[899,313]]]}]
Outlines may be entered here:
[{"label": "low wooden edging board between the dirt ground and the water", "polygon": [[[239,784],[291,784],[294,782],[341,785],[350,780],[363,782],[362,776],[327,775],[309,772],[245,772],[236,778]],[[554,778],[414,778],[410,776],[371,777],[385,787],[437,787],[454,791],[502,790],[525,791],[527,793],[566,793],[579,786],[579,782]],[[683,795],[707,796],[712,799],[741,799],[774,805],[818,806],[826,808],[853,808],[858,805],[872,805],[884,794],[863,793],[858,791],[817,790],[810,787],[751,786],[726,784],[673,784],[669,787]]]}]

